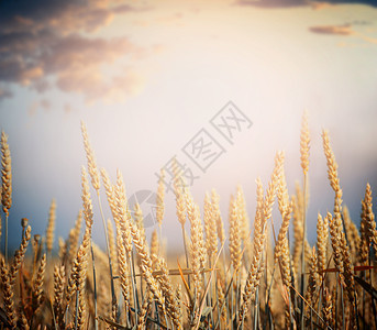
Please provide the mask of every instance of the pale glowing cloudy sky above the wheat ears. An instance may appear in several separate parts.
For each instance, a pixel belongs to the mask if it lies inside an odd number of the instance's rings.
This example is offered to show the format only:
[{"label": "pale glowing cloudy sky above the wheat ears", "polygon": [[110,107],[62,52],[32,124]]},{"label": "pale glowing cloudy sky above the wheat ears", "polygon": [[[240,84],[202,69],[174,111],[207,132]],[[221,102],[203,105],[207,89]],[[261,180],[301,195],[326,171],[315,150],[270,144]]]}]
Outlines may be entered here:
[{"label": "pale glowing cloudy sky above the wheat ears", "polygon": [[[295,182],[302,183],[304,110],[313,243],[317,213],[332,209],[334,195],[323,129],[356,223],[366,183],[373,191],[377,186],[376,1],[0,1],[0,129],[9,135],[13,175],[10,244],[20,243],[23,217],[34,234],[45,233],[53,198],[56,238],[67,238],[81,208],[80,121],[98,166],[112,180],[119,168],[130,200],[149,216],[149,235],[158,173],[174,156],[201,207],[206,191],[218,190],[224,220],[240,184],[253,221],[255,179],[267,187],[279,150],[293,194]],[[168,246],[180,248],[168,179],[167,173],[163,233]],[[95,241],[103,246],[91,193]],[[110,217],[103,194],[102,204]],[[278,213],[274,221],[278,226]]]}]

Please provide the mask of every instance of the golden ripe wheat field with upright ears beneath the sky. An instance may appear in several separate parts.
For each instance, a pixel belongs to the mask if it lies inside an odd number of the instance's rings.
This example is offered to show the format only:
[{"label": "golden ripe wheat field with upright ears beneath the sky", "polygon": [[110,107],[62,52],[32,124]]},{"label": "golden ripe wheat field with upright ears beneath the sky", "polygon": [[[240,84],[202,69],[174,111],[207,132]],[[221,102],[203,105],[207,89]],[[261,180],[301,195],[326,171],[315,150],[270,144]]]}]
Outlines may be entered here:
[{"label": "golden ripe wheat field with upright ears beneath the sky", "polygon": [[[14,254],[8,251],[12,166],[8,136],[1,134],[1,329],[376,329],[377,231],[372,188],[367,184],[361,197],[357,228],[342,200],[337,163],[329,132],[323,131],[334,207],[318,215],[317,243],[310,246],[311,136],[306,114],[298,132],[301,184],[296,184],[293,195],[288,194],[285,154],[277,152],[270,180],[256,179],[254,215],[246,211],[241,186],[230,198],[228,215],[221,213],[215,190],[206,195],[201,215],[175,163],[181,255],[163,244],[163,179],[156,189],[158,226],[148,241],[143,211],[137,204],[129,205],[122,173],[118,170],[117,180],[111,182],[96,164],[84,123],[81,132],[87,156],[81,169],[82,209],[68,238],[59,238],[58,253],[53,253],[55,200],[45,234],[34,233],[23,218],[20,248]],[[101,200],[101,191],[107,200]],[[103,222],[104,250],[91,235],[93,204],[100,210],[96,219]],[[111,219],[104,219],[106,204]],[[271,217],[276,207],[280,228],[274,227]]]}]

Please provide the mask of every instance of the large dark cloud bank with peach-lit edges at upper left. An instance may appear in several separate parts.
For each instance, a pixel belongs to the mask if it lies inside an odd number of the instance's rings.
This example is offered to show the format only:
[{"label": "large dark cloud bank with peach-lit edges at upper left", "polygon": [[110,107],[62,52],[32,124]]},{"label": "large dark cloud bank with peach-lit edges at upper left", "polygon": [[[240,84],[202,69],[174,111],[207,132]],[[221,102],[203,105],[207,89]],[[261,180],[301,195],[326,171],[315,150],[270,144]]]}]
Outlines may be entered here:
[{"label": "large dark cloud bank with peach-lit edges at upper left", "polygon": [[[154,48],[136,46],[127,37],[92,37],[92,32],[117,14],[137,10],[145,8],[111,0],[0,2],[0,84],[29,86],[41,94],[56,87],[87,101],[113,99],[121,94],[117,84],[123,95],[133,94],[142,79],[119,66]],[[4,97],[11,94],[0,89],[0,98]],[[37,102],[30,112],[38,107],[49,106]]]}]

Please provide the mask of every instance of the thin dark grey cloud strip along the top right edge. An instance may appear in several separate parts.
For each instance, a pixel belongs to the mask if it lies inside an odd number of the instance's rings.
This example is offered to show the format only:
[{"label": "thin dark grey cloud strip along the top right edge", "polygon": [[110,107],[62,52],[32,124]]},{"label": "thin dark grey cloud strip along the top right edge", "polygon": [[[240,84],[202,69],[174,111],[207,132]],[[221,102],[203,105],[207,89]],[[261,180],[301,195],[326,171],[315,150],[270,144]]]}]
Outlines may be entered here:
[{"label": "thin dark grey cloud strip along the top right edge", "polygon": [[304,1],[304,0],[239,0],[241,6],[254,6],[263,8],[285,8],[285,7],[301,7],[301,6],[320,6],[322,4],[346,4],[359,3],[372,7],[377,7],[377,0],[329,0],[329,1]]}]

